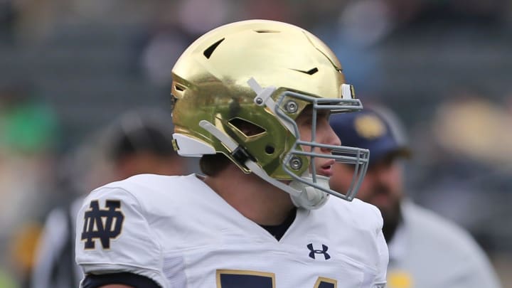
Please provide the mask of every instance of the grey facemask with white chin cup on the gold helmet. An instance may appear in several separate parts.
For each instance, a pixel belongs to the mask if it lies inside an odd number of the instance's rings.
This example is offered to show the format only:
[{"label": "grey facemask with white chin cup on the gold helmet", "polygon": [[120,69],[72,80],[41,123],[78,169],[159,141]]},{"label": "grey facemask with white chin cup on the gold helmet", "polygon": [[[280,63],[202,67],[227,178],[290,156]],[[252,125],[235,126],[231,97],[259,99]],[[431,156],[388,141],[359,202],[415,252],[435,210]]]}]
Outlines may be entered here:
[{"label": "grey facemask with white chin cup on the gold helmet", "polygon": [[[343,87],[345,89],[342,88],[342,98],[319,98],[299,92],[284,91],[274,102],[269,96],[273,94],[275,88],[262,89],[253,78],[248,83],[257,92],[255,103],[266,105],[270,110],[273,110],[275,116],[294,134],[296,139],[292,148],[282,158],[282,169],[292,178],[287,186],[275,183],[275,180],[266,174],[260,173],[258,176],[289,193],[295,205],[299,207],[319,208],[327,201],[329,195],[352,201],[368,169],[369,151],[348,146],[321,144],[315,141],[316,119],[319,110],[340,113],[358,111],[363,108],[360,100],[353,99],[352,87],[346,85]],[[302,105],[299,104],[301,102]],[[301,139],[299,127],[295,122],[298,114],[304,111],[304,109],[300,111],[298,109],[301,106],[306,106],[304,103],[311,106],[310,141]],[[290,114],[297,114],[297,116],[292,118]],[[309,151],[305,151],[304,147],[309,147],[307,149]],[[315,148],[331,150],[332,154],[316,153]],[[316,174],[315,158],[334,159],[336,162],[354,165],[353,179],[346,193],[331,190],[329,188],[329,177]],[[255,167],[253,169],[257,170]]]}]

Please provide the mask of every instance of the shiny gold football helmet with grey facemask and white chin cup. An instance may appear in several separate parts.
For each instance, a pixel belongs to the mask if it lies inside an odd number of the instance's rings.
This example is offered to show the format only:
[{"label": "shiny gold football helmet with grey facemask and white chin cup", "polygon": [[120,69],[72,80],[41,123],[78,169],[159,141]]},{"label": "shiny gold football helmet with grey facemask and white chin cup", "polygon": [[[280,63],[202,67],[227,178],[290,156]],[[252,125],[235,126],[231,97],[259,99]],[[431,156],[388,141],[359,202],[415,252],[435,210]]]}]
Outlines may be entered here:
[{"label": "shiny gold football helmet with grey facemask and white chin cup", "polygon": [[[287,23],[251,20],[220,26],[198,38],[172,71],[178,154],[222,153],[292,196],[318,208],[329,194],[351,201],[368,165],[368,150],[314,142],[316,111],[361,110],[334,53],[313,34]],[[311,142],[294,119],[311,105]],[[243,127],[252,127],[250,133]],[[311,146],[306,152],[302,146]],[[332,149],[332,155],[314,148]],[[354,164],[350,191],[329,188],[314,157]]]}]

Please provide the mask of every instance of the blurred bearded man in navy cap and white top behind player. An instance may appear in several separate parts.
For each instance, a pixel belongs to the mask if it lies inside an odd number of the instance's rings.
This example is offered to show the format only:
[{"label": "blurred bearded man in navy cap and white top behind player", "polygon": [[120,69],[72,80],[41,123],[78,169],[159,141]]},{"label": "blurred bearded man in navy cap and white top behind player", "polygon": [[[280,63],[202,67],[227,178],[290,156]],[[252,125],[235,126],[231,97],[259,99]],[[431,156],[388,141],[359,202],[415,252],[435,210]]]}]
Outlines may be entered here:
[{"label": "blurred bearded man in navy cap and white top behind player", "polygon": [[[385,107],[334,114],[331,127],[345,146],[370,150],[370,164],[357,197],[377,206],[388,242],[390,288],[500,287],[486,254],[462,228],[421,208],[404,191],[402,159],[411,156],[398,118]],[[345,191],[353,171],[335,164],[331,188]],[[457,205],[457,203],[454,203]]]}]

